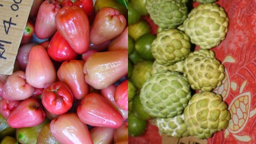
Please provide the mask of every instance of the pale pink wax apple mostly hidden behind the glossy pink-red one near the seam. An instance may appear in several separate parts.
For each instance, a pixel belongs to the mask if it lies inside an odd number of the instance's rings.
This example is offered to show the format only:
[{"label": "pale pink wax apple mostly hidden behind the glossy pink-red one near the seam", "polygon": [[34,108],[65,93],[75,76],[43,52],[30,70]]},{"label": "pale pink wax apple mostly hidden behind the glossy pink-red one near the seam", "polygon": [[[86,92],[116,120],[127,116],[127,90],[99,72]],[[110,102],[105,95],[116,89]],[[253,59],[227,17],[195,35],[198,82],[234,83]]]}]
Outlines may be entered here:
[{"label": "pale pink wax apple mostly hidden behind the glossy pink-red one near the seam", "polygon": [[100,90],[100,95],[102,95],[105,100],[107,100],[108,103],[123,116],[123,121],[125,121],[128,118],[128,110],[124,110],[117,105],[114,98],[116,87],[115,84],[111,84],[107,88]]}]

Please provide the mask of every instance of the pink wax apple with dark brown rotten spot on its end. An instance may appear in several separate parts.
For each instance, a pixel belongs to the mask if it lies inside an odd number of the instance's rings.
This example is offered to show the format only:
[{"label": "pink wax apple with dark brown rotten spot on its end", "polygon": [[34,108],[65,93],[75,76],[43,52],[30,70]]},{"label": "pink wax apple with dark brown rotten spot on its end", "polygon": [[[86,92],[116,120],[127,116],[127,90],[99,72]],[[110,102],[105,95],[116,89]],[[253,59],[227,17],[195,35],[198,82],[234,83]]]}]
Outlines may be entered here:
[{"label": "pink wax apple with dark brown rotten spot on its end", "polygon": [[7,117],[12,128],[32,127],[43,123],[46,113],[43,105],[34,98],[22,100]]}]

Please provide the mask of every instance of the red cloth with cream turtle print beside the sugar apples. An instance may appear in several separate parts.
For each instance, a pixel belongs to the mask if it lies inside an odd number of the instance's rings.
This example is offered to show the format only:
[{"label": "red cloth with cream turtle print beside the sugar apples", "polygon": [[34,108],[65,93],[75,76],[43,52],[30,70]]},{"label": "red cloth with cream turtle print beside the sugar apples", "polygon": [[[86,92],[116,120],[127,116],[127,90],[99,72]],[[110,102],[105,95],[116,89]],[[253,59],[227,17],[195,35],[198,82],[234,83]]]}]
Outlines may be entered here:
[{"label": "red cloth with cream turtle print beside the sugar apples", "polygon": [[[227,12],[229,26],[226,38],[211,49],[225,66],[226,74],[223,84],[213,92],[222,95],[228,104],[231,120],[226,130],[215,133],[207,143],[255,144],[256,0],[218,0],[216,3]],[[195,2],[193,7],[198,4]],[[157,131],[150,126],[145,136],[130,138],[129,144],[161,144]]]}]

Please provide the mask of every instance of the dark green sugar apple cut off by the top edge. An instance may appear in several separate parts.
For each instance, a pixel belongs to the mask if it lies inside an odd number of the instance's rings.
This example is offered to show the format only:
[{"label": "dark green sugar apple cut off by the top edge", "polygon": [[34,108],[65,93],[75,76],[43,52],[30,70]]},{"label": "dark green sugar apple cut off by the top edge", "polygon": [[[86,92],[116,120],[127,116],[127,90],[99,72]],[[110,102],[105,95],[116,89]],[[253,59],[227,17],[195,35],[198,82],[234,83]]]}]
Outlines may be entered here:
[{"label": "dark green sugar apple cut off by the top edge", "polygon": [[188,17],[187,0],[146,0],[150,18],[161,28],[176,28]]}]

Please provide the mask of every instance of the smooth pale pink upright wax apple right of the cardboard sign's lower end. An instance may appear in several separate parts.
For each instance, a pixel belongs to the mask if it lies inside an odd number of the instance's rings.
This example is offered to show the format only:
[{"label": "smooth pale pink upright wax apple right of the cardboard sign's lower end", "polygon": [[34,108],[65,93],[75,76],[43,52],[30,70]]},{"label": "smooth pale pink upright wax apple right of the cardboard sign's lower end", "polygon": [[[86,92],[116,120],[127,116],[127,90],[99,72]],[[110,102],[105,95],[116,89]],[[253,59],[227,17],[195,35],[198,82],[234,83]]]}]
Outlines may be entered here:
[{"label": "smooth pale pink upright wax apple right of the cardboard sign's lower end", "polygon": [[28,84],[36,88],[45,88],[56,81],[56,70],[43,46],[31,48],[25,74]]}]

